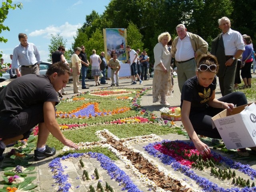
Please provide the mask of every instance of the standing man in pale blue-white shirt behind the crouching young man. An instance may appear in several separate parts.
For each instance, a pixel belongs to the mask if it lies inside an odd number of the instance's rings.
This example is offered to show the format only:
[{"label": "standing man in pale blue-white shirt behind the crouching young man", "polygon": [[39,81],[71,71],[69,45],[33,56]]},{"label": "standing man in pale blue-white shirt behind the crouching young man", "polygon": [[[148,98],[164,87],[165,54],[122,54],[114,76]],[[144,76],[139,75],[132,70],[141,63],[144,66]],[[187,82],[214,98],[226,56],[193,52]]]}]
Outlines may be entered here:
[{"label": "standing man in pale blue-white shirt behind the crouching young man", "polygon": [[[39,51],[33,43],[28,43],[28,36],[24,33],[18,35],[20,44],[13,50],[12,68],[16,70],[18,77],[26,74],[39,75],[39,65],[42,62]],[[21,66],[21,72],[18,68]]]}]

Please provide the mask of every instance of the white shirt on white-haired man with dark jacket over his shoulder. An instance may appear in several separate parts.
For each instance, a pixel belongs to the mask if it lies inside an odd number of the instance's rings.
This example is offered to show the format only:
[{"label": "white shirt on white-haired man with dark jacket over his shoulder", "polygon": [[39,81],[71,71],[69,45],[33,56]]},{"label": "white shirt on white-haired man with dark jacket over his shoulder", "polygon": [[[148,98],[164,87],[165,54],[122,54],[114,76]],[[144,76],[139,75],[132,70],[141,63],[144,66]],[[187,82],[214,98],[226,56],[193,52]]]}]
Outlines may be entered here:
[{"label": "white shirt on white-haired man with dark jacket over his shoulder", "polygon": [[242,35],[231,28],[225,34],[222,33],[222,39],[225,48],[225,55],[232,56],[237,50],[245,50]]}]

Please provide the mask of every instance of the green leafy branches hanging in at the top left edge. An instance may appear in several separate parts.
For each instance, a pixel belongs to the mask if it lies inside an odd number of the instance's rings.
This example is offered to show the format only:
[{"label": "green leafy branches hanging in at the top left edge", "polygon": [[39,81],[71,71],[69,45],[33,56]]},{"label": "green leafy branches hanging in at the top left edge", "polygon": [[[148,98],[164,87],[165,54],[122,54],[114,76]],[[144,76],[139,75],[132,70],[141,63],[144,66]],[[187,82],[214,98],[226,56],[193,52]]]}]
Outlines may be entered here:
[{"label": "green leafy branches hanging in at the top left edge", "polygon": [[[4,25],[4,20],[6,20],[9,10],[14,10],[17,7],[21,9],[23,7],[23,4],[21,2],[17,4],[12,4],[12,0],[2,0],[2,6],[0,8],[0,34],[2,33],[2,31],[10,31],[10,28]],[[4,38],[3,36],[0,36],[0,43],[6,43],[7,41],[8,39]],[[0,58],[1,57],[2,51],[0,52]],[[2,72],[0,72],[0,76],[2,76]]]}]

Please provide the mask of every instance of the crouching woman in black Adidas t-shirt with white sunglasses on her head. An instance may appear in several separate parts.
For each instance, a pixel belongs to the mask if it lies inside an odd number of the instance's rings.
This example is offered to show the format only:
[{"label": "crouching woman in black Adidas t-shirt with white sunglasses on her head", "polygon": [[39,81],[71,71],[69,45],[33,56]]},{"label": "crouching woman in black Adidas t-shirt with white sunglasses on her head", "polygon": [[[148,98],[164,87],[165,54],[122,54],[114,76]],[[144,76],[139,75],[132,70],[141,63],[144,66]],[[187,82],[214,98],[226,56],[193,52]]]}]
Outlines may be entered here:
[{"label": "crouching woman in black Adidas t-shirt with white sunglasses on her head", "polygon": [[181,93],[181,120],[196,149],[204,156],[210,154],[209,147],[198,135],[221,139],[217,128],[212,129],[212,117],[224,109],[232,111],[234,105],[247,104],[242,92],[233,92],[220,99],[215,98],[218,62],[211,54],[203,55],[198,62],[196,76],[188,79]]}]

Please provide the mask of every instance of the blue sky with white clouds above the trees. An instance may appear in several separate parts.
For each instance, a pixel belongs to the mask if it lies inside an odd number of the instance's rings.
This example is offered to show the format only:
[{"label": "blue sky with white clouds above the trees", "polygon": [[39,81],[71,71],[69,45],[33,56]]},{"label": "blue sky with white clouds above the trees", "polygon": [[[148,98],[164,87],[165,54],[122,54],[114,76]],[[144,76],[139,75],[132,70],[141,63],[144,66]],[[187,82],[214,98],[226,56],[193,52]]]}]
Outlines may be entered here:
[{"label": "blue sky with white clouds above the trees", "polygon": [[4,25],[10,31],[0,34],[8,39],[7,43],[0,43],[0,51],[4,62],[9,63],[14,47],[20,44],[19,33],[26,33],[28,42],[38,48],[42,61],[47,61],[50,34],[59,33],[67,40],[66,48],[71,48],[76,30],[84,24],[86,15],[92,10],[102,14],[110,0],[13,0],[17,2],[22,2],[23,8],[9,11]]}]

